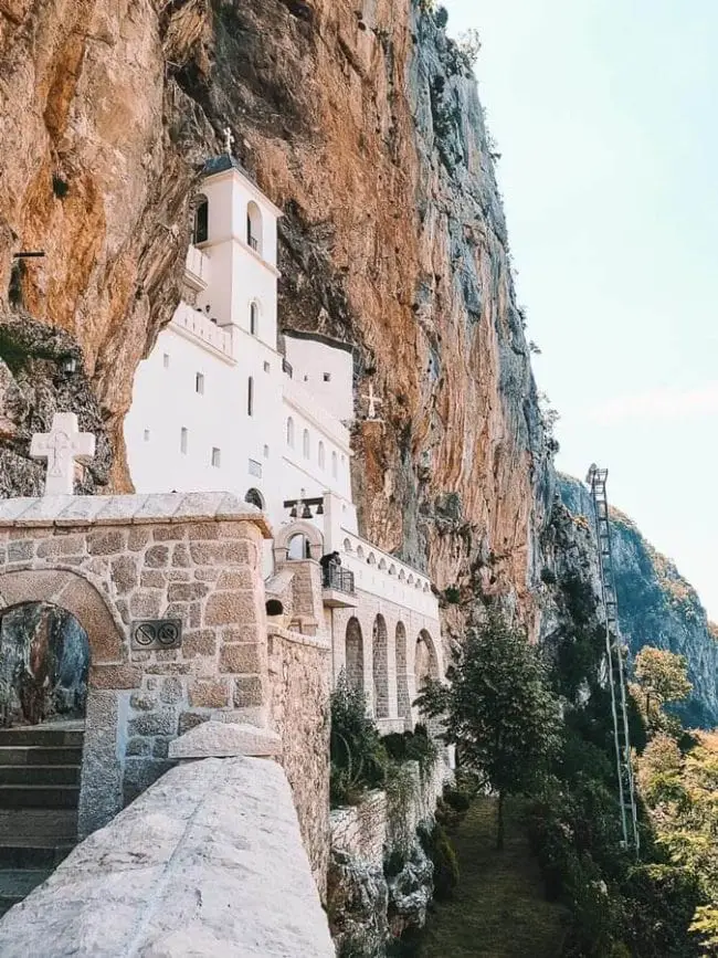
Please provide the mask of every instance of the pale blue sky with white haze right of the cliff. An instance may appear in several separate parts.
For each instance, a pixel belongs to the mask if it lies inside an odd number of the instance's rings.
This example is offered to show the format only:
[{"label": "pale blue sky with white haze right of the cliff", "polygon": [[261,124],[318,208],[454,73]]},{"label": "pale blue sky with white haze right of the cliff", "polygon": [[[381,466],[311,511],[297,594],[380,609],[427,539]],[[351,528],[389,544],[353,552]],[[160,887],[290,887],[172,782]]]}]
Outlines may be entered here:
[{"label": "pale blue sky with white haze right of the cliff", "polygon": [[444,0],[476,65],[559,469],[718,620],[718,2]]}]

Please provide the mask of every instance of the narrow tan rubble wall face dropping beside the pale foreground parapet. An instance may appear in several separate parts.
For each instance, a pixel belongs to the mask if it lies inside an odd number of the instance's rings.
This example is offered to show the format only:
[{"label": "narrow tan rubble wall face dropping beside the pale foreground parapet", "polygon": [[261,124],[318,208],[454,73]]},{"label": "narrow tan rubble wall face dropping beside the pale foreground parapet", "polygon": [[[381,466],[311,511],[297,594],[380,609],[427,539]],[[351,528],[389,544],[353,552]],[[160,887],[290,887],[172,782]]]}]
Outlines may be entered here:
[{"label": "narrow tan rubble wall face dropping beside the pale foreground parapet", "polygon": [[330,643],[273,627],[268,638],[272,718],[282,738],[304,844],[324,896],[329,862]]}]

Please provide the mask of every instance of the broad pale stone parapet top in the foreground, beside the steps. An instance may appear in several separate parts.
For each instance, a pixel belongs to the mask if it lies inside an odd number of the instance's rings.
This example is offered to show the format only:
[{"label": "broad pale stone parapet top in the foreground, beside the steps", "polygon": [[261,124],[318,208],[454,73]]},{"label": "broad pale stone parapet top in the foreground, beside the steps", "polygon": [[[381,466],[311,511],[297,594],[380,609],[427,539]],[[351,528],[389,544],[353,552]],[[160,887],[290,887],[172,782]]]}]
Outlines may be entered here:
[{"label": "broad pale stone parapet top in the foreground, beside the steps", "polygon": [[0,954],[334,958],[282,769],[172,769],[6,915]]}]

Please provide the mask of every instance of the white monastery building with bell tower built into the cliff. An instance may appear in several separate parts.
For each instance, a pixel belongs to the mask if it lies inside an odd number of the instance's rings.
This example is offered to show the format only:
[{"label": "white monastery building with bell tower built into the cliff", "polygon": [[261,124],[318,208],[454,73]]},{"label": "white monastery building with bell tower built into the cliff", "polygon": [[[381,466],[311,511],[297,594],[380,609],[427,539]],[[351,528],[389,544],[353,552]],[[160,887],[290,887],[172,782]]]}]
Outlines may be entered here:
[{"label": "white monastery building with bell tower built into the cliff", "polygon": [[278,335],[281,215],[229,152],[207,164],[182,302],[136,375],[129,467],[139,493],[226,489],[263,509],[270,596],[292,562],[339,552],[316,628],[331,635],[335,680],[346,669],[380,726],[401,730],[422,680],[444,673],[439,603],[424,573],[360,535],[351,346]]}]

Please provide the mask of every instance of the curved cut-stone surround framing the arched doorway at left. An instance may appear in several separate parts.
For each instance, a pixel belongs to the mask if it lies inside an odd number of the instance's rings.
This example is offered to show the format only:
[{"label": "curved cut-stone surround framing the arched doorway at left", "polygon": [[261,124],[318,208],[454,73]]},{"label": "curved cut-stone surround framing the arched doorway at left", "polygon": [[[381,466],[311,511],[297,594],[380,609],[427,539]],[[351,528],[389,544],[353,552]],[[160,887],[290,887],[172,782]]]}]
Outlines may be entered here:
[{"label": "curved cut-stone surround framing the arched doorway at left", "polygon": [[120,762],[126,736],[119,728],[117,689],[137,687],[141,671],[127,665],[128,649],[118,617],[86,578],[67,569],[0,572],[3,608],[38,602],[71,613],[89,645],[87,723],[77,808],[77,831],[84,836],[123,808]]}]

